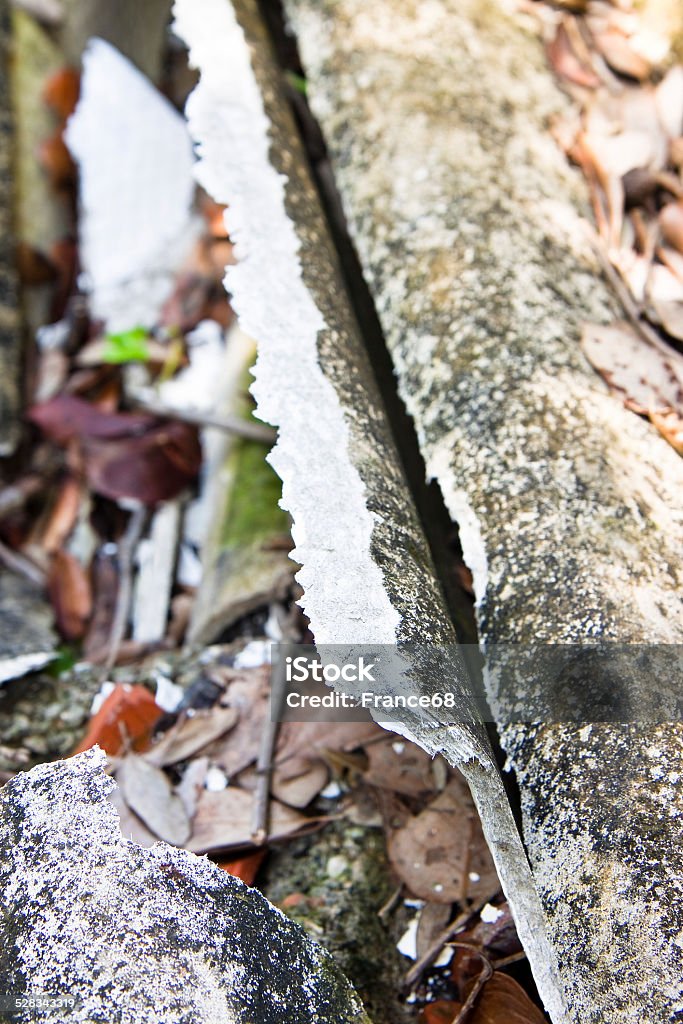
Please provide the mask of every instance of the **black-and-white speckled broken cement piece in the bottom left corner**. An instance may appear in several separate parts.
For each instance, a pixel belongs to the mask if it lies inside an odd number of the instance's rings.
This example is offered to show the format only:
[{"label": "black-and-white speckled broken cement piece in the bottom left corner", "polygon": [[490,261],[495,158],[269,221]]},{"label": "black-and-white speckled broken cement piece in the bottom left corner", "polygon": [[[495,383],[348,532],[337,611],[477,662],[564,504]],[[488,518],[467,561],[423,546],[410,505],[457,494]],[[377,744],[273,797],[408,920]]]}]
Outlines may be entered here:
[{"label": "black-and-white speckled broken cement piece in the bottom left corner", "polygon": [[75,996],[74,1024],[368,1024],[331,956],[260,893],[123,839],[104,763],[91,751],[0,793],[0,991]]}]

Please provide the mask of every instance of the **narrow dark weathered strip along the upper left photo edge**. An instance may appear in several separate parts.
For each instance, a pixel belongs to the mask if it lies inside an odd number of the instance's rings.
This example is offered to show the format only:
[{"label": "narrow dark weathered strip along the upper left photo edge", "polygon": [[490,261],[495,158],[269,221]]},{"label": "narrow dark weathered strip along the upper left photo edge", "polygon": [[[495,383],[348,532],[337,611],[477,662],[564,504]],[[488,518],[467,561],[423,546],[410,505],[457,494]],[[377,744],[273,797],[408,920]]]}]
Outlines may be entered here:
[{"label": "narrow dark weathered strip along the upper left photo edge", "polygon": [[18,437],[19,317],[14,263],[12,111],[8,80],[10,24],[0,0],[0,457],[11,455]]}]

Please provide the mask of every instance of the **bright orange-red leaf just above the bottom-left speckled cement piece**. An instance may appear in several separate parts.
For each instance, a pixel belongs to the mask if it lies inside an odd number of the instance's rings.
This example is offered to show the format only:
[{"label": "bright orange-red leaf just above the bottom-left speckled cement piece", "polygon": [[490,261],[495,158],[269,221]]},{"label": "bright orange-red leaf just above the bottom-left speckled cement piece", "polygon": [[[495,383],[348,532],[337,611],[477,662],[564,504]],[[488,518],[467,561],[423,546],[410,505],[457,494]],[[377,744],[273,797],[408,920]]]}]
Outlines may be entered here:
[{"label": "bright orange-red leaf just above the bottom-left speckled cement piece", "polygon": [[82,754],[95,743],[110,756],[118,754],[124,743],[136,751],[144,750],[163,714],[143,686],[120,683],[90,719],[88,731],[74,754]]}]

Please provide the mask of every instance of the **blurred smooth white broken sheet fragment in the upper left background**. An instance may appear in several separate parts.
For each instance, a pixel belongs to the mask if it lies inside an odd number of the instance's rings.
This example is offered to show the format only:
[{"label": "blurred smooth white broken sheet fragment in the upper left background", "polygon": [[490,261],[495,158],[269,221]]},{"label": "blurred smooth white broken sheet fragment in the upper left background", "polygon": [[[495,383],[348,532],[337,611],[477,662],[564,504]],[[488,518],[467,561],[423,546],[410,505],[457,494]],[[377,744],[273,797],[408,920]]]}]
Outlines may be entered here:
[{"label": "blurred smooth white broken sheet fragment in the upper left background", "polygon": [[65,138],[80,170],[93,315],[110,332],[152,327],[198,233],[184,121],[126,57],[92,39]]}]

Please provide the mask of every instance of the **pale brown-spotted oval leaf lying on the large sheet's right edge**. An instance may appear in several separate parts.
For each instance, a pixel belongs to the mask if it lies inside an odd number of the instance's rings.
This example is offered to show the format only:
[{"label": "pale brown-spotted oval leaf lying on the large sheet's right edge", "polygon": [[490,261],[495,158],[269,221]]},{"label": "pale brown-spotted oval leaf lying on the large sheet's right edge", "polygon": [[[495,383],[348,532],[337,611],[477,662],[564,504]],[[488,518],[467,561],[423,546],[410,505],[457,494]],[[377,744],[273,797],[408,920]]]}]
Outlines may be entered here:
[{"label": "pale brown-spotted oval leaf lying on the large sheet's right edge", "polygon": [[671,359],[667,359],[643,341],[630,324],[624,321],[609,327],[587,324],[582,347],[628,409],[647,415],[680,408],[683,389],[676,366],[680,357],[672,350]]}]

